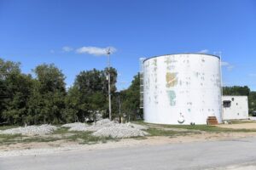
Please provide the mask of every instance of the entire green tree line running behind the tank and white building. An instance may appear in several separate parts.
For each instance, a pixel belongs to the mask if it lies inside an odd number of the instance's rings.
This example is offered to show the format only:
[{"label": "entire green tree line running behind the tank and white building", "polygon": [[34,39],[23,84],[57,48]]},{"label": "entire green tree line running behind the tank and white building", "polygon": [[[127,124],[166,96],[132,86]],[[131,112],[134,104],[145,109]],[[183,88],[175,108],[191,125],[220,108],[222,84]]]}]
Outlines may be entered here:
[{"label": "entire green tree line running behind the tank and white building", "polygon": [[[38,65],[31,74],[20,71],[20,63],[0,59],[0,124],[84,122],[108,117],[108,68],[80,71],[66,88],[65,76],[55,65]],[[113,118],[142,119],[140,78],[117,91],[117,71],[111,75]],[[247,86],[224,87],[224,95],[247,95],[249,110],[256,111],[256,92]]]}]

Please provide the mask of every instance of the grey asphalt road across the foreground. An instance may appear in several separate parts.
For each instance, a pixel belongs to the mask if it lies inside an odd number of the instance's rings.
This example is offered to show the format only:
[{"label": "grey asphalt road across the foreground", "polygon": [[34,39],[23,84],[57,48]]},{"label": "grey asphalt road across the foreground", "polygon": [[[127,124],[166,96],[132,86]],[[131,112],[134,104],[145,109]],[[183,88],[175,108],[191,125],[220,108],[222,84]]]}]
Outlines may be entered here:
[{"label": "grey asphalt road across the foreground", "polygon": [[0,170],[226,169],[224,167],[256,169],[256,138],[0,158]]}]

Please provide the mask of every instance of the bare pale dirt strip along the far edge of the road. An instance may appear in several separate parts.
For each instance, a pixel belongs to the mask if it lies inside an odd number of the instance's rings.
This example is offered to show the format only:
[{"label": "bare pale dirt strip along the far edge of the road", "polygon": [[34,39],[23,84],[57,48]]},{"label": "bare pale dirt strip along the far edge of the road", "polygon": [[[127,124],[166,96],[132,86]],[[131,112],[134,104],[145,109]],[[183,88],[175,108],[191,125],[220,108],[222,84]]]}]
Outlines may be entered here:
[{"label": "bare pale dirt strip along the far edge of the road", "polygon": [[[236,139],[256,136],[255,133],[201,133],[201,134],[190,134],[186,136],[177,137],[166,137],[166,136],[154,136],[147,137],[146,139],[120,139],[119,141],[108,141],[107,143],[98,144],[79,144],[79,142],[71,142],[67,140],[57,140],[54,142],[32,142],[32,143],[17,143],[9,145],[0,145],[0,156],[1,153],[7,151],[19,151],[22,150],[38,150],[40,152],[49,152],[51,149],[56,150],[96,150],[96,149],[107,149],[107,148],[119,148],[129,147],[137,145],[155,145],[155,144],[175,144],[175,143],[189,143],[197,141],[214,141],[224,139]],[[20,152],[21,150],[21,152]]]}]

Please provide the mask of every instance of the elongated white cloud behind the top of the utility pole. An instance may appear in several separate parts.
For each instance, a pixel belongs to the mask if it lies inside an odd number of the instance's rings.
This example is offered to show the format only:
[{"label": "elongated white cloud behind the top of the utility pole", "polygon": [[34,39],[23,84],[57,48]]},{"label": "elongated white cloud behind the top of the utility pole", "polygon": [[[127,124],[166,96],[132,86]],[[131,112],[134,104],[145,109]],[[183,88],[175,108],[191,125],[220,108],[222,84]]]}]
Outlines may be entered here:
[{"label": "elongated white cloud behind the top of the utility pole", "polygon": [[[116,48],[108,47],[110,52],[113,54],[117,51]],[[82,47],[76,49],[76,53],[78,54],[91,54],[91,55],[106,55],[108,48],[97,48],[97,47]]]}]

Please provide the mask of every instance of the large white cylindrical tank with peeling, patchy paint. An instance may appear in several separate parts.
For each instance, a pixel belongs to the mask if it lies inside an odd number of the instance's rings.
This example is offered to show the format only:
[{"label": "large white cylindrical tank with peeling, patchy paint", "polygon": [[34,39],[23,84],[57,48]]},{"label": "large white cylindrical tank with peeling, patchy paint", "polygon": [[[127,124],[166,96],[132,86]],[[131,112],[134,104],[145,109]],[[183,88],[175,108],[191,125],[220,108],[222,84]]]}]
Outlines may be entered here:
[{"label": "large white cylindrical tank with peeling, patchy paint", "polygon": [[220,59],[212,54],[167,54],[143,61],[144,121],[222,122]]}]

